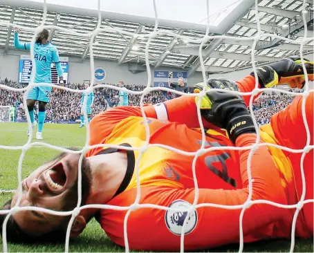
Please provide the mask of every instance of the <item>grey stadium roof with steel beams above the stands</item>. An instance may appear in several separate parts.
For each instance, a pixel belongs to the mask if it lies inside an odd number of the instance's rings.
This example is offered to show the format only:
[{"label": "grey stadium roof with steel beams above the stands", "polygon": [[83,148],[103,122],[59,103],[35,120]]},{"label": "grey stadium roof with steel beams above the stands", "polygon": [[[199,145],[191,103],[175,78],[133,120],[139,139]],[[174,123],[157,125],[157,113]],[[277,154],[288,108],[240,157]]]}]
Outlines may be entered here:
[{"label": "grey stadium roof with steel beams above the stands", "polygon": [[[192,1],[192,0],[191,0]],[[313,53],[313,0],[261,0],[258,1],[261,35],[264,33],[277,34],[291,41],[274,37],[264,37],[257,42],[255,61],[257,64],[272,62],[277,58],[299,54],[299,44],[304,38],[304,20],[308,28],[308,40],[304,53]],[[43,17],[43,3],[21,0],[1,0],[0,16],[3,22],[13,22],[20,26],[36,28]],[[205,3],[204,3],[205,4]],[[204,6],[205,8],[205,6]],[[47,5],[46,25],[57,25],[75,32],[92,32],[98,24],[98,12],[83,8],[73,8]],[[230,10],[232,10],[230,12]],[[98,59],[145,64],[147,35],[154,30],[153,17],[140,17],[115,12],[102,11],[100,28],[118,28],[132,32],[135,36],[125,35],[115,30],[100,32],[93,41],[94,57]],[[188,13],[188,10],[187,10]],[[210,16],[212,21],[221,15],[228,14],[216,26],[210,26],[210,35],[227,35],[229,39],[209,39],[203,46],[202,55],[205,70],[210,73],[227,73],[241,68],[249,68],[251,62],[252,40],[239,40],[239,37],[257,35],[255,0],[238,0],[221,12]],[[186,15],[183,14],[183,15]],[[8,26],[1,26],[0,47],[8,50],[13,48],[13,32]],[[207,20],[201,23],[185,23],[182,21],[159,19],[158,30],[170,30],[178,35],[188,37],[178,39],[172,35],[160,35],[151,40],[149,46],[149,61],[152,66],[174,66],[188,71],[188,75],[200,71],[198,48],[205,35]],[[29,41],[32,32],[21,33],[21,41]],[[76,56],[84,60],[89,57],[89,38],[71,35],[61,30],[50,32],[50,41],[59,49],[60,55]]]}]

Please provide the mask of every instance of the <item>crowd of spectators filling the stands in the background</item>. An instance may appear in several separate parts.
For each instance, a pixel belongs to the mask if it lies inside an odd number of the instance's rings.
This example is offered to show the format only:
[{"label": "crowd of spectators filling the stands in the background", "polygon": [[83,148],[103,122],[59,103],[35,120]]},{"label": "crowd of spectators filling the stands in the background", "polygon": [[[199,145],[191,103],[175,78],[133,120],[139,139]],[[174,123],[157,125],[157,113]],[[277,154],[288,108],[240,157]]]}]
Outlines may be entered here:
[{"label": "crowd of spectators filling the stands in the background", "polygon": [[[8,79],[0,81],[0,83],[12,88],[22,88],[17,82]],[[50,103],[46,106],[46,122],[75,122],[80,119],[80,101],[82,92],[79,92],[79,90],[84,89],[84,85],[69,84],[68,87],[77,90],[77,92],[64,91],[58,88],[53,89],[50,96]],[[145,88],[145,86],[140,85],[126,85],[125,87],[131,91],[142,91]],[[192,93],[192,87],[189,92]],[[15,106],[17,109],[17,121],[26,120],[23,94],[23,92],[0,88],[0,106]],[[95,101],[93,105],[93,115],[98,114],[100,111],[105,111],[108,108],[118,106],[118,91],[112,88],[96,88],[94,94]],[[148,95],[145,95],[143,103],[156,104],[164,102],[165,100],[170,100],[174,97],[174,93],[153,91]],[[286,108],[292,100],[293,96],[283,93],[263,93],[253,104],[253,111],[258,124],[268,123],[271,115]],[[140,95],[129,93],[129,105],[139,106]]]}]

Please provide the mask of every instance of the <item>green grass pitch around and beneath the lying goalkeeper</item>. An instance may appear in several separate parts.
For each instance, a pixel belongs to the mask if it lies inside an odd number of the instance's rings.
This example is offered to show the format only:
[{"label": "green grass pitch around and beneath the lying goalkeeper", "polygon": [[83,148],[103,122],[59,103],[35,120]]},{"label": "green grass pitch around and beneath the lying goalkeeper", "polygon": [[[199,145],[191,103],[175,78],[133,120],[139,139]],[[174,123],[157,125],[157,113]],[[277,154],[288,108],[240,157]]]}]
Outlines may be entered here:
[{"label": "green grass pitch around and beneath the lying goalkeeper", "polygon": [[[0,145],[24,145],[27,124],[0,123]],[[35,136],[35,133],[34,133]],[[78,124],[45,124],[43,136],[45,142],[59,147],[82,147],[85,143],[86,129],[79,129]],[[33,142],[37,141],[35,138]],[[33,147],[26,152],[23,161],[23,178],[30,174],[44,161],[53,158],[57,151],[46,147]],[[0,149],[0,189],[17,187],[17,165],[21,150]],[[0,194],[0,205],[10,198],[10,194]],[[209,227],[210,229],[210,227]],[[152,235],[154,236],[154,235]],[[2,251],[2,239],[0,243]],[[70,252],[124,252],[123,247],[112,243],[97,222],[89,223],[84,233],[70,242]],[[289,240],[262,241],[244,245],[245,252],[288,252]],[[64,243],[59,245],[14,245],[8,244],[9,252],[64,252]],[[210,252],[238,252],[239,245],[228,245]],[[295,252],[313,252],[313,240],[296,239]]]}]

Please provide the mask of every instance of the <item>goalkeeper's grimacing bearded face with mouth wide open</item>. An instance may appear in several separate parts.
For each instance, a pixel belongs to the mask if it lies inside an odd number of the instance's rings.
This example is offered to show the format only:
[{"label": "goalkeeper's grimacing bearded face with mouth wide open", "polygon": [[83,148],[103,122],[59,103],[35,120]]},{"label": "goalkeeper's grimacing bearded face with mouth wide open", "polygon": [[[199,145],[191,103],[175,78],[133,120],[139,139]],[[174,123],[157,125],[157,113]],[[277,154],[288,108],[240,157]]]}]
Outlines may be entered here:
[{"label": "goalkeeper's grimacing bearded face with mouth wide open", "polygon": [[[77,205],[77,176],[80,154],[62,153],[45,163],[22,181],[20,207],[36,206],[55,211],[71,211]],[[82,160],[82,205],[89,196],[91,170],[88,160]],[[11,207],[17,203],[18,191]],[[56,216],[38,211],[12,214],[17,225],[31,236],[66,228],[71,216]]]}]

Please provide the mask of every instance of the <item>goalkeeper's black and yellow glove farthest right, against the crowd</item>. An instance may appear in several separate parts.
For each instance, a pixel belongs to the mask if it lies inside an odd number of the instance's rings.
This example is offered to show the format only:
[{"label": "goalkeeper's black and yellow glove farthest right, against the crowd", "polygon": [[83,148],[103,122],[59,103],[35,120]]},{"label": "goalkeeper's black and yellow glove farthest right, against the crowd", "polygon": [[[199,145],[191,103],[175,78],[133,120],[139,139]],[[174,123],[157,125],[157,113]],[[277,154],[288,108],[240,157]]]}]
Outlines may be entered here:
[{"label": "goalkeeper's black and yellow glove farthest right, against the crowd", "polygon": [[[314,63],[304,59],[308,79],[313,81]],[[254,72],[250,73],[255,77]],[[303,88],[305,83],[304,71],[300,57],[292,56],[279,62],[267,64],[257,69],[261,88],[271,88],[275,85],[288,84],[290,88]]]}]

